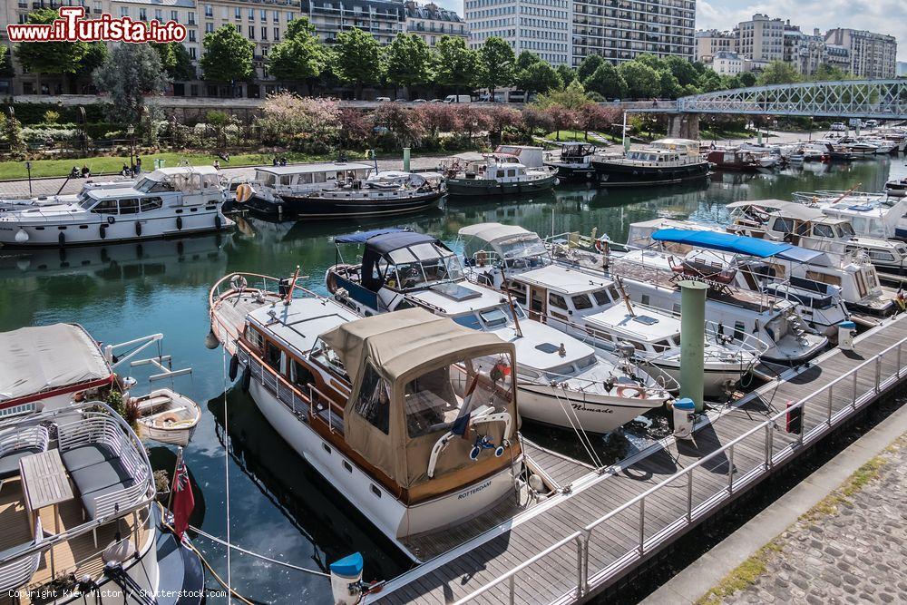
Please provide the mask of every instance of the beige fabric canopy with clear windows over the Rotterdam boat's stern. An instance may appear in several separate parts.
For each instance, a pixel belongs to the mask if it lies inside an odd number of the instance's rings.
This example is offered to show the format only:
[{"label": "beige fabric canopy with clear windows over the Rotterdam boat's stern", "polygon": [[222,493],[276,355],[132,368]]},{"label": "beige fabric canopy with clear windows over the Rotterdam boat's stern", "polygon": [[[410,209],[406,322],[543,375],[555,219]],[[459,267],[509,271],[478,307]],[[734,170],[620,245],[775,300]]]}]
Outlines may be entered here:
[{"label": "beige fabric canopy with clear windows over the Rotterdam boat's stern", "polygon": [[[503,424],[483,424],[483,433],[496,444],[515,438],[511,343],[421,308],[358,319],[321,339],[353,383],[344,411],[346,443],[400,486],[430,479],[434,445],[464,415],[506,413],[509,434]],[[507,369],[495,370],[500,367]],[[471,447],[454,439],[434,476],[471,464]]]}]

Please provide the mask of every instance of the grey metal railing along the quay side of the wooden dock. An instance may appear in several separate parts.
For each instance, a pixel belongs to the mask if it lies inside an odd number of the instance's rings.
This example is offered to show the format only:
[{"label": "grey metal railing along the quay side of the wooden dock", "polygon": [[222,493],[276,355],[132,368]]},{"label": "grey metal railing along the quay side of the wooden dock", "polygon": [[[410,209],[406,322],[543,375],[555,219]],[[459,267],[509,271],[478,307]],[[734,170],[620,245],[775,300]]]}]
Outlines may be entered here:
[{"label": "grey metal railing along the quay side of the wooden dock", "polygon": [[[628,569],[645,561],[672,536],[686,532],[707,518],[715,509],[733,500],[741,489],[758,483],[777,465],[785,464],[805,446],[816,443],[825,434],[833,430],[836,424],[853,415],[863,405],[873,401],[884,390],[900,382],[907,367],[904,366],[902,349],[907,347],[907,338],[889,346],[882,352],[870,357],[859,366],[839,376],[828,384],[816,389],[796,402],[791,402],[779,412],[757,424],[746,433],[722,445],[714,452],[707,454],[672,474],[668,478],[640,493],[633,499],[621,504],[612,511],[600,516],[587,525],[577,527],[576,531],[564,536],[561,540],[540,551],[527,561],[497,576],[482,587],[469,593],[454,605],[463,605],[479,599],[486,593],[495,590],[493,600],[513,603],[517,599],[518,582],[527,575],[538,573],[539,566],[552,557],[575,557],[576,575],[570,579],[565,597],[580,600],[591,594],[592,589],[607,585],[619,578]],[[884,367],[884,371],[883,371]],[[868,387],[860,388],[860,379]],[[835,411],[837,402],[843,406]],[[787,419],[799,415],[800,429],[786,430]],[[785,434],[782,444],[777,435]],[[753,450],[758,456],[736,452]],[[746,456],[746,457],[745,457]],[[715,481],[722,473],[721,481]],[[698,478],[698,479],[697,479]],[[607,479],[605,479],[607,481]],[[707,489],[694,490],[697,482],[703,482]],[[663,520],[663,516],[652,515],[649,520],[647,503],[656,494],[665,491],[686,494],[686,505]],[[609,531],[609,522],[620,523],[623,528],[633,528],[634,543],[616,555],[600,561],[593,561],[590,544],[596,544],[600,550],[611,551],[615,546],[613,531]],[[601,542],[607,542],[601,546]],[[486,597],[487,600],[487,597]]]}]

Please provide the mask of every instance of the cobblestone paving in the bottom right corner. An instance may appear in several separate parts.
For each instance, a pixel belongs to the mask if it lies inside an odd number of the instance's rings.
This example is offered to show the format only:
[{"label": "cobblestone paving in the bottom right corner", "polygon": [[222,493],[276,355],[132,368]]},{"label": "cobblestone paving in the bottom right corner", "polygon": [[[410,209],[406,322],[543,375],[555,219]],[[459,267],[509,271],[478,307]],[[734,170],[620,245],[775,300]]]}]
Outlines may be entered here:
[{"label": "cobblestone paving in the bottom right corner", "polygon": [[907,435],[873,462],[766,547],[765,571],[721,602],[907,603]]}]

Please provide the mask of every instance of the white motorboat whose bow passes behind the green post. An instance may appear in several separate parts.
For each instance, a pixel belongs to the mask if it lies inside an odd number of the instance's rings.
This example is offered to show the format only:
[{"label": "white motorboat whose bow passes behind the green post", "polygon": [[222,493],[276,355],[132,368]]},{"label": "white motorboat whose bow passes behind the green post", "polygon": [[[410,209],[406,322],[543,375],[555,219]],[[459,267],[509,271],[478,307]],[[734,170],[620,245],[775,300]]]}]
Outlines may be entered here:
[{"label": "white motorboat whose bow passes behind the green post", "polygon": [[[653,376],[665,376],[674,389],[679,376],[679,330],[676,317],[657,308],[626,305],[613,279],[555,264],[532,231],[500,223],[460,229],[466,271],[479,283],[507,288],[529,309],[529,316],[577,337],[600,350],[631,356]],[[503,280],[506,276],[506,281]],[[505,285],[506,284],[506,285]],[[758,363],[768,346],[746,334],[724,337],[723,327],[707,324],[706,393],[727,392]],[[629,344],[629,347],[621,345]],[[650,369],[652,368],[652,369]],[[653,371],[654,369],[654,371]]]}]

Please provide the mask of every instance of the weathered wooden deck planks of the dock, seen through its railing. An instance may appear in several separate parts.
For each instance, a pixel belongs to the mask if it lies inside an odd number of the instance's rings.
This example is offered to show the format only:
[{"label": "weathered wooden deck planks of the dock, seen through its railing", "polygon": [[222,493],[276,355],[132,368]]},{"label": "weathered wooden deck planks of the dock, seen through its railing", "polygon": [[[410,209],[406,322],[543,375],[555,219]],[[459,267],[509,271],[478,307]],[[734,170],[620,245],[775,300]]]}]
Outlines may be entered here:
[{"label": "weathered wooden deck planks of the dock, seen through its railing", "polygon": [[[510,571],[522,561],[532,558],[551,543],[560,540],[562,536],[569,535],[606,512],[617,509],[671,474],[696,463],[738,435],[763,423],[770,415],[783,410],[787,402],[798,401],[812,395],[903,337],[907,337],[907,317],[899,317],[882,329],[864,336],[858,341],[855,352],[835,351],[797,376],[764,385],[755,395],[746,398],[742,405],[724,410],[723,415],[700,427],[694,434],[692,442],[678,444],[669,441],[667,445],[652,450],[638,461],[625,464],[618,473],[581,488],[580,492],[572,494],[569,499],[529,521],[522,522],[507,534],[455,557],[453,561],[444,563],[434,571],[428,571],[419,579],[419,589],[415,594],[413,590],[387,592],[382,595],[382,602],[395,603],[415,599],[417,602],[443,603],[462,598],[471,591],[481,588],[483,584],[493,581],[502,573]],[[907,363],[907,351],[904,352],[903,361]],[[880,366],[882,379],[892,376],[895,371],[894,360],[886,360]],[[857,377],[858,392],[863,394],[872,389],[875,380],[874,365],[861,370]],[[834,387],[833,415],[852,402],[853,381],[847,379]],[[808,431],[812,427],[824,424],[826,419],[827,398],[820,396],[807,406],[804,428]],[[772,432],[775,451],[785,444],[795,443],[798,439],[797,435],[785,432],[783,419],[779,424]],[[762,449],[765,438],[765,432],[760,431],[735,445],[735,476],[762,467],[765,462],[765,453]],[[562,460],[552,461],[552,453],[546,454],[543,450],[535,452],[527,447],[527,454],[538,455],[537,462],[541,459],[549,464],[553,462],[552,477],[559,483],[570,477],[571,473],[579,472],[577,467],[564,464]],[[726,456],[719,456],[711,464],[707,463],[697,469],[693,483],[694,507],[711,498],[717,490],[727,486],[727,463]],[[589,471],[588,468],[584,470]],[[572,478],[571,481],[575,481],[576,478]],[[686,514],[687,483],[684,479],[678,479],[677,483],[676,490],[666,489],[658,493],[657,497],[647,498],[645,528],[647,538]],[[634,548],[639,543],[638,519],[639,508],[634,505],[596,529],[597,539],[590,542],[590,571],[601,569],[604,565],[616,561],[628,549]],[[565,545],[561,551],[553,553],[521,573],[520,581],[516,582],[517,601],[548,602],[571,590],[575,585],[575,568],[575,546]],[[537,581],[533,582],[533,579]],[[502,590],[490,592],[485,595],[486,598],[477,602],[505,600],[506,583],[502,586]],[[406,587],[411,588],[412,585]]]}]

